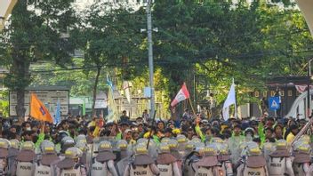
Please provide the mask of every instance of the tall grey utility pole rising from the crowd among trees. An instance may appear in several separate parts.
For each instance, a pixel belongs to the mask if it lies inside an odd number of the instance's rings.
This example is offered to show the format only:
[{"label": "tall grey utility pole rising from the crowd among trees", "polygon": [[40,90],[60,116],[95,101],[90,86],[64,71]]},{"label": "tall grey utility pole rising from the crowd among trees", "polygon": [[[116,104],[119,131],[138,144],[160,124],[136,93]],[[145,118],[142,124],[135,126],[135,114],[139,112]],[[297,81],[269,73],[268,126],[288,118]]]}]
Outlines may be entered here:
[{"label": "tall grey utility pole rising from the crowd among trees", "polygon": [[149,117],[154,116],[156,103],[155,103],[155,87],[154,87],[154,69],[153,69],[153,48],[152,48],[152,17],[151,17],[151,1],[147,1],[147,33],[148,33],[148,73],[149,73],[149,86],[150,86],[150,113]]}]

